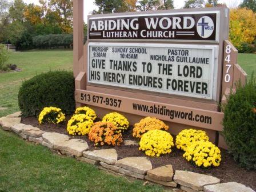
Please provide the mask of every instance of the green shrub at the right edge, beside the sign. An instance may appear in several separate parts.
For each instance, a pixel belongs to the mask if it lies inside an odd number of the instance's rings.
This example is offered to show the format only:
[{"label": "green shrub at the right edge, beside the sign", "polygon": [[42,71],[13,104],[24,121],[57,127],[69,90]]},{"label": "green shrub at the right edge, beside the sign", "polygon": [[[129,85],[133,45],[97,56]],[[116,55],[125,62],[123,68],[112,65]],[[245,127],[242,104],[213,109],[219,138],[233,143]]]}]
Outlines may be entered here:
[{"label": "green shrub at the right edge, beside the sign", "polygon": [[236,162],[246,169],[256,169],[256,79],[244,87],[238,83],[236,93],[223,107],[223,136]]}]

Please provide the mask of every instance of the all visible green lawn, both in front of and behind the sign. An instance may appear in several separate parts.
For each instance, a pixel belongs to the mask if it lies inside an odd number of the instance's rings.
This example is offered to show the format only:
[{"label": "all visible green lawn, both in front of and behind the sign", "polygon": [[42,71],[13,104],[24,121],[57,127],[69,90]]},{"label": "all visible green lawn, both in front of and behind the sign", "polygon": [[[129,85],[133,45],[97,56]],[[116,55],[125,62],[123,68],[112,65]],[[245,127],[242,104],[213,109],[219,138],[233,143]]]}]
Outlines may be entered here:
[{"label": "all visible green lawn, both in front of and behind the sign", "polygon": [[[63,50],[13,53],[10,63],[21,72],[0,73],[0,117],[18,111],[22,81],[49,70],[72,70],[73,52]],[[238,63],[256,73],[256,54],[239,54]],[[117,177],[97,167],[60,157],[46,147],[27,143],[0,129],[0,191],[163,191],[142,181]]]}]

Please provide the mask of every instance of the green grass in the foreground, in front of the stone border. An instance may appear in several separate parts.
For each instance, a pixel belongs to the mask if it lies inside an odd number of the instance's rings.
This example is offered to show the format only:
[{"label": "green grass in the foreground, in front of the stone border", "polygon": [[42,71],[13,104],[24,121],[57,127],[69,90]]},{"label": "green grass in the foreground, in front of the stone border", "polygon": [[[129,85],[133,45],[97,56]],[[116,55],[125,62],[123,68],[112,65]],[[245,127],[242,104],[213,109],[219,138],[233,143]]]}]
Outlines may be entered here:
[{"label": "green grass in the foreground, in front of the stone border", "polygon": [[51,153],[0,129],[0,191],[165,191]]}]

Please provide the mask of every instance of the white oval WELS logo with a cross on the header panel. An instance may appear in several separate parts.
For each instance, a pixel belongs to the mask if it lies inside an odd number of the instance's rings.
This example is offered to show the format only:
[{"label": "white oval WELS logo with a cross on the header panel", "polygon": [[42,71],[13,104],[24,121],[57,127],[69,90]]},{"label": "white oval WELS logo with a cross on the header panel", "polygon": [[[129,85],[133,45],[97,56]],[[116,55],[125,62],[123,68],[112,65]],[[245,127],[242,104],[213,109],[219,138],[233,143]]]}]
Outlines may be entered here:
[{"label": "white oval WELS logo with a cross on the header panel", "polygon": [[213,19],[208,16],[201,17],[197,22],[197,33],[202,38],[208,38],[213,34]]}]

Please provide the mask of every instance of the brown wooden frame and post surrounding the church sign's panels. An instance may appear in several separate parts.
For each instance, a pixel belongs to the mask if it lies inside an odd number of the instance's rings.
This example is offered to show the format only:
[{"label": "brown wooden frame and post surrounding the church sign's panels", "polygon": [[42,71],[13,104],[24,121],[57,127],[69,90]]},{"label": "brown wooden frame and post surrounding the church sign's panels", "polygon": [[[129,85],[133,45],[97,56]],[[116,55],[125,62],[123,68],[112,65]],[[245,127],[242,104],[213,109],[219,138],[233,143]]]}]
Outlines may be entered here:
[{"label": "brown wooden frame and post surrounding the church sign's panels", "polygon": [[[197,11],[218,11],[219,14],[219,37],[218,42],[205,41],[197,42],[198,45],[218,45],[218,67],[217,73],[219,75],[217,79],[217,98],[215,101],[207,101],[206,99],[189,98],[178,95],[170,95],[164,93],[153,93],[151,91],[142,91],[134,89],[126,89],[124,87],[113,87],[106,85],[95,85],[94,83],[87,82],[87,60],[88,60],[88,43],[89,42],[113,42],[112,39],[87,39],[85,45],[83,45],[83,0],[74,0],[74,77],[75,77],[75,101],[77,107],[90,106],[102,118],[106,113],[111,111],[119,111],[124,114],[131,125],[138,122],[139,119],[145,116],[157,117],[162,119],[170,126],[170,132],[178,134],[182,129],[194,128],[205,130],[210,137],[210,140],[219,143],[219,146],[225,147],[223,138],[219,140],[219,131],[222,131],[222,119],[223,113],[219,109],[219,103],[225,102],[225,93],[227,90],[234,88],[234,83],[238,79],[241,79],[242,83],[246,81],[246,73],[242,71],[241,67],[237,65],[237,51],[231,46],[231,43],[227,41],[229,31],[229,9],[225,7],[205,8],[205,9],[185,9],[185,10],[163,10],[163,11],[148,11],[143,14],[166,14],[166,13],[180,13],[182,11],[190,12],[191,14]],[[142,13],[117,13],[117,14],[105,14],[104,17],[121,17],[122,15],[139,15]],[[91,15],[90,17],[102,17],[102,15]],[[87,34],[87,37],[88,34]],[[115,39],[115,42],[126,42],[122,39]],[[130,43],[145,43],[141,40],[132,40]],[[150,43],[159,43],[159,41],[150,41]],[[170,43],[170,41],[161,41],[161,43]],[[184,41],[171,41],[171,43],[184,43]],[[187,44],[195,44],[195,42],[187,41]],[[227,53],[224,53],[226,46],[230,46],[230,61],[232,64],[229,67],[227,61],[223,61],[223,58],[227,57]],[[224,53],[224,54],[223,54]],[[228,51],[229,53],[229,51]],[[227,60],[227,59],[226,59]],[[224,62],[224,63],[223,63]],[[226,69],[229,67],[229,70]],[[223,71],[223,73],[222,73]],[[226,74],[225,74],[226,71]],[[223,79],[230,76],[229,82],[223,82]],[[90,97],[90,99],[88,99]],[[121,101],[121,102],[120,102]],[[112,104],[110,105],[110,102]],[[119,103],[120,102],[120,103]],[[151,106],[153,111],[150,110],[134,110],[133,104],[141,106]],[[119,107],[118,107],[119,106]],[[159,106],[159,107],[158,107]],[[154,109],[155,107],[155,109]],[[171,118],[171,115],[162,115],[154,113],[154,110],[168,109],[171,114],[178,112],[182,114],[179,118]],[[167,113],[167,112],[166,112]],[[193,117],[189,117],[190,114]],[[197,115],[197,116],[196,116]],[[186,117],[185,117],[186,116]],[[190,115],[191,116],[191,115]],[[195,119],[197,117],[197,119]],[[199,117],[199,120],[198,120]],[[200,119],[201,118],[201,119]],[[211,123],[209,118],[211,119]],[[208,122],[205,122],[207,119]]]}]

